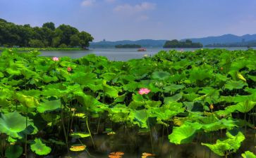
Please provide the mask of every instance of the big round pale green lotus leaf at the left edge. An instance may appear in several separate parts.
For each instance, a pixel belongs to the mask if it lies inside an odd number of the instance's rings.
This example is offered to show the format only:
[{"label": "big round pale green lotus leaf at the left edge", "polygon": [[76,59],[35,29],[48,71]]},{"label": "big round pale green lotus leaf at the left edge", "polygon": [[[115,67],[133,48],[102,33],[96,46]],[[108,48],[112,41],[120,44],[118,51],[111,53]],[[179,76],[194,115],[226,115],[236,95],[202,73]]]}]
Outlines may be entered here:
[{"label": "big round pale green lotus leaf at the left edge", "polygon": [[2,114],[0,118],[0,132],[13,138],[20,138],[19,133],[26,129],[26,118],[18,112]]}]

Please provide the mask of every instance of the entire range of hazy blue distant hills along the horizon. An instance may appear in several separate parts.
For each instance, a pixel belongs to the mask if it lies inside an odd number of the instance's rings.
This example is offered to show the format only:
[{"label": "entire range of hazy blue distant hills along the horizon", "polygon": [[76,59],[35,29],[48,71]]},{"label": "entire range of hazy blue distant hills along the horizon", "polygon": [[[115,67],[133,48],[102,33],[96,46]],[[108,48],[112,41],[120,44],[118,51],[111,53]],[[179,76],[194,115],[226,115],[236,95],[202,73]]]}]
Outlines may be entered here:
[{"label": "entire range of hazy blue distant hills along the horizon", "polygon": [[[171,38],[170,38],[171,39]],[[185,41],[186,39],[181,39],[181,41]],[[203,37],[203,38],[192,38],[190,39],[193,43],[200,43],[202,45],[208,44],[228,44],[228,43],[239,43],[239,42],[248,42],[256,40],[256,34],[245,34],[241,37],[236,36],[234,34],[224,34],[219,37]],[[119,44],[138,44],[142,47],[146,48],[162,48],[167,40],[154,40],[154,39],[141,39],[138,41],[98,41],[91,42],[90,48],[114,48]]]}]

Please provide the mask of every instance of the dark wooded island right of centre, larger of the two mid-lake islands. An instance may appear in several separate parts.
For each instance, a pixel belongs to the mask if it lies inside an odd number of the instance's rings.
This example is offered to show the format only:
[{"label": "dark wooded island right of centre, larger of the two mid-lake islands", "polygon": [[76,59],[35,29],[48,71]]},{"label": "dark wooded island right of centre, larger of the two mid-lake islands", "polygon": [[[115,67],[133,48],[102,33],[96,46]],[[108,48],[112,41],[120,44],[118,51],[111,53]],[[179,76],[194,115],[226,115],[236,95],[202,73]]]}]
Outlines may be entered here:
[{"label": "dark wooded island right of centre, larger of the two mid-lake islands", "polygon": [[185,41],[178,41],[177,39],[173,39],[171,41],[166,41],[164,48],[202,48],[202,44],[193,43],[189,39]]}]

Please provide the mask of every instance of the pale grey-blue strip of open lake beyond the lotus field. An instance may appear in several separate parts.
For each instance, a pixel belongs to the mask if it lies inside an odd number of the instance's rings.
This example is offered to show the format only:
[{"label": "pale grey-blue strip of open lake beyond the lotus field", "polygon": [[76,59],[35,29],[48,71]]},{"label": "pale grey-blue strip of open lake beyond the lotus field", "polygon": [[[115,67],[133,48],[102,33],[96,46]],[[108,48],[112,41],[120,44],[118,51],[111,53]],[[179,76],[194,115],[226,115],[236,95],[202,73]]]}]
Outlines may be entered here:
[{"label": "pale grey-blue strip of open lake beyond the lotus field", "polygon": [[[142,58],[145,54],[154,55],[159,51],[169,51],[169,50],[178,50],[178,51],[194,51],[198,48],[147,48],[147,51],[139,52],[138,48],[90,48],[87,51],[41,51],[42,56],[69,56],[71,58],[80,58],[87,54],[95,54],[100,56],[105,56],[109,60],[130,60]],[[246,47],[238,47],[238,48],[224,48],[228,50],[247,50]]]}]

